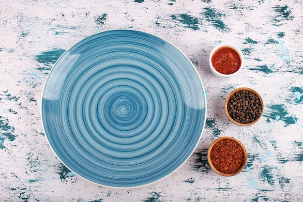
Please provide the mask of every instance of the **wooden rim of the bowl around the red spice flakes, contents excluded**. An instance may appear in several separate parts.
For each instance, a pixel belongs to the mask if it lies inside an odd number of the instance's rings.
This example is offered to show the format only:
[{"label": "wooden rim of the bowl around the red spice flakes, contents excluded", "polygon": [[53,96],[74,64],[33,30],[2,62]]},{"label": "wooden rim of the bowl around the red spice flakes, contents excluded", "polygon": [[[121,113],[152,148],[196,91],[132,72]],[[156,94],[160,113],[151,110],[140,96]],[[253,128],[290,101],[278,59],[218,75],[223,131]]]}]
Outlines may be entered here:
[{"label": "wooden rim of the bowl around the red spice flakes, contents excluded", "polygon": [[[244,155],[244,160],[243,160],[243,163],[242,163],[242,165],[241,165],[241,167],[239,168],[238,171],[235,171],[235,172],[233,172],[233,173],[227,174],[227,173],[218,171],[218,170],[214,167],[214,165],[212,164],[212,159],[211,159],[212,148],[213,148],[213,146],[214,146],[216,143],[218,143],[220,140],[233,140],[233,141],[235,141],[236,143],[238,143],[238,144],[240,145],[240,147],[242,148],[243,155]],[[224,154],[223,154],[223,155],[224,155]],[[235,138],[232,138],[232,137],[222,137],[222,138],[218,138],[217,140],[214,140],[214,141],[212,142],[211,146],[210,146],[209,149],[208,149],[207,160],[208,160],[208,163],[209,163],[209,165],[211,166],[211,168],[212,168],[213,171],[215,171],[216,173],[218,173],[218,174],[220,174],[220,175],[229,177],[229,176],[233,176],[233,175],[238,174],[239,172],[241,172],[241,171],[245,168],[245,165],[246,165],[246,162],[247,162],[247,153],[246,153],[245,147],[243,146],[243,144],[242,144],[239,140],[237,140],[237,139],[235,139]]]}]

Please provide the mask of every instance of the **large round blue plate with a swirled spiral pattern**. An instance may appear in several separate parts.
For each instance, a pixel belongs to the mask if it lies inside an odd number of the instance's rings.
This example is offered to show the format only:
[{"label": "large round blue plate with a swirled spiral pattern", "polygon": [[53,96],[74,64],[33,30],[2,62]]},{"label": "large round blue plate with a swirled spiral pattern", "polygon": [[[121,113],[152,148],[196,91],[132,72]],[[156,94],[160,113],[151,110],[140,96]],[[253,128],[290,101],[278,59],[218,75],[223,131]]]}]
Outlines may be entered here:
[{"label": "large round blue plate with a swirled spiral pattern", "polygon": [[194,152],[206,121],[197,70],[150,33],[89,36],[51,69],[42,94],[46,138],[63,164],[102,186],[159,181]]}]

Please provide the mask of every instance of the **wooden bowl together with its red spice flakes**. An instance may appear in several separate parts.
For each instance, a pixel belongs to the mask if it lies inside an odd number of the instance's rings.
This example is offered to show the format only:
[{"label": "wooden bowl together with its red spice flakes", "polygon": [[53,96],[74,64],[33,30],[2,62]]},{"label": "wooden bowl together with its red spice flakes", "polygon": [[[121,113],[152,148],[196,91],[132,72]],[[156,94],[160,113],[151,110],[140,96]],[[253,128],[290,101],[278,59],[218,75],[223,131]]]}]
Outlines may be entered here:
[{"label": "wooden bowl together with its red spice flakes", "polygon": [[214,140],[208,149],[207,160],[212,170],[223,176],[233,176],[241,172],[247,162],[243,144],[232,137]]}]

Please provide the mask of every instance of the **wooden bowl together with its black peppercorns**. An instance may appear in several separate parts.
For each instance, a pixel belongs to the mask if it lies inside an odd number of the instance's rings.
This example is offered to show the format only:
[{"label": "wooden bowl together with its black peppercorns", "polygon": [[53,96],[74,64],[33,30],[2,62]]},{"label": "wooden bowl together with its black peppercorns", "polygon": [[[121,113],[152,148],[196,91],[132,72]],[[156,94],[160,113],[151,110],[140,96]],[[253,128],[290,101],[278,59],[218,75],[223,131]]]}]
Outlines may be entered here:
[{"label": "wooden bowl together with its black peppercorns", "polygon": [[226,98],[225,113],[234,124],[255,124],[263,113],[261,96],[253,89],[242,87],[233,90]]}]

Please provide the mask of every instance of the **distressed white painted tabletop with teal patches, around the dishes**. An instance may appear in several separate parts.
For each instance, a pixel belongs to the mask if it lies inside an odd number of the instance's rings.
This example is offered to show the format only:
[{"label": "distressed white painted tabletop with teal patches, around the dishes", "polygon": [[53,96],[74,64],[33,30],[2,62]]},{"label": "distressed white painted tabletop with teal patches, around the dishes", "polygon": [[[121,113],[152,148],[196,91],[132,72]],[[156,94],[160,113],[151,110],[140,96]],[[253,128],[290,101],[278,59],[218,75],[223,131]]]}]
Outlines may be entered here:
[{"label": "distressed white painted tabletop with teal patches, around the dishes", "polygon": [[[301,201],[303,193],[303,3],[293,0],[0,1],[0,201],[167,202]],[[179,47],[207,91],[208,117],[191,158],[150,186],[112,189],[69,171],[47,144],[40,97],[49,70],[79,40],[110,29],[137,29]],[[212,75],[220,43],[243,51],[237,77]],[[237,87],[261,94],[264,114],[240,127],[224,113]],[[248,153],[233,177],[207,163],[212,140],[233,136]]]}]

